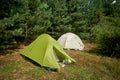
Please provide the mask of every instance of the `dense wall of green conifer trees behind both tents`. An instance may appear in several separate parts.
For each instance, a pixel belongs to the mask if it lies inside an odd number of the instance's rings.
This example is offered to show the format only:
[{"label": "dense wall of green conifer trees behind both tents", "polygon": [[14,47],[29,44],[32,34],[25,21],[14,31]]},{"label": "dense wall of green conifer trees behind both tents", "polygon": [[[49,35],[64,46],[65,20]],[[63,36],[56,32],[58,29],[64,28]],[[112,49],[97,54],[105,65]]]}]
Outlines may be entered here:
[{"label": "dense wall of green conifer trees behind both tents", "polygon": [[[116,0],[2,0],[0,3],[0,45],[34,40],[42,33],[58,38],[73,32],[91,39],[91,28],[110,24],[119,27],[120,1]],[[112,17],[111,19],[109,17]],[[105,19],[105,20],[104,20]]]}]

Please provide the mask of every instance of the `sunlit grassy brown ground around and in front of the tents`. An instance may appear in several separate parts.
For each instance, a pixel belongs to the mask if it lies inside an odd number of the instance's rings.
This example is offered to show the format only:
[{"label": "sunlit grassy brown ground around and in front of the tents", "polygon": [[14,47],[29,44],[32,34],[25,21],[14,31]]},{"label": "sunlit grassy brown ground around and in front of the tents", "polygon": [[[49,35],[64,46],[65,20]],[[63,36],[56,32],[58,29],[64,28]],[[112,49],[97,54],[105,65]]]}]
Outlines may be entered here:
[{"label": "sunlit grassy brown ground around and in front of the tents", "polygon": [[120,80],[120,59],[98,55],[95,44],[84,41],[83,51],[66,50],[76,63],[47,71],[20,55],[25,47],[0,53],[0,80]]}]

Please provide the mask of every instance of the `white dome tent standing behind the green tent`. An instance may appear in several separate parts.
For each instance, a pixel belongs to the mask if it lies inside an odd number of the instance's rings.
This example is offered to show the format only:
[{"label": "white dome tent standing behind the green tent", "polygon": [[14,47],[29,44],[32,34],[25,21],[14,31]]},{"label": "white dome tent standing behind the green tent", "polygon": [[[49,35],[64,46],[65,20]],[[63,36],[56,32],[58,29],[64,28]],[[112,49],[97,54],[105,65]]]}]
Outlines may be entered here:
[{"label": "white dome tent standing behind the green tent", "polygon": [[58,42],[64,47],[64,49],[83,50],[84,44],[81,39],[73,33],[63,34]]}]

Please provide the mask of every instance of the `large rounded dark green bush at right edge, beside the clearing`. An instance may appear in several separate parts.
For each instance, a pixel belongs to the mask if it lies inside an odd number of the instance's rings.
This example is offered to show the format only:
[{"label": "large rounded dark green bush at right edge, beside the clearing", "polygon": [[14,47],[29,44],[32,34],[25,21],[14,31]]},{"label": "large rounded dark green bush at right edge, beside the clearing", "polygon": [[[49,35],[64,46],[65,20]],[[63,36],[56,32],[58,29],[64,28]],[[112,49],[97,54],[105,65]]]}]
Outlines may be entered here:
[{"label": "large rounded dark green bush at right edge, beside the clearing", "polygon": [[93,29],[93,35],[101,53],[108,56],[120,57],[119,27],[95,27]]}]

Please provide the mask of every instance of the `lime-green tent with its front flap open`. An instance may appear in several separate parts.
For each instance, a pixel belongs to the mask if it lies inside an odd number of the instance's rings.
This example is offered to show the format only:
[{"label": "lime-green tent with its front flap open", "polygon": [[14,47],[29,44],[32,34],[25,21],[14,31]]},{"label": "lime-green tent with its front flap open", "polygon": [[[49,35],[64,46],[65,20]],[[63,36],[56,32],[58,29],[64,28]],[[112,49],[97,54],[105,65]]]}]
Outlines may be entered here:
[{"label": "lime-green tent with its front flap open", "polygon": [[75,62],[74,59],[66,54],[61,45],[48,34],[40,35],[30,45],[23,49],[21,54],[32,59],[41,66],[50,68],[60,68],[56,56],[60,61],[68,59]]}]

